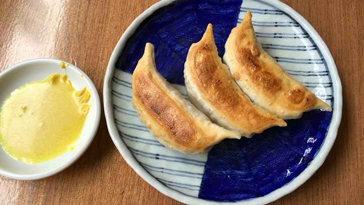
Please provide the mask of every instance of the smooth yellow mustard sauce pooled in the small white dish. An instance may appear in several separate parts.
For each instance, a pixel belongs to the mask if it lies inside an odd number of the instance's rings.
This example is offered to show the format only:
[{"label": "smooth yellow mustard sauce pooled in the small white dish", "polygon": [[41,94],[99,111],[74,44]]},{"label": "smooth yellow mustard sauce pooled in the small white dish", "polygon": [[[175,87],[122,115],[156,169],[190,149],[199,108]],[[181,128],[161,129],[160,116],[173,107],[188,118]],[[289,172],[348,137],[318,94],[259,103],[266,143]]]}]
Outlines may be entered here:
[{"label": "smooth yellow mustard sauce pooled in the small white dish", "polygon": [[90,104],[66,74],[53,73],[12,91],[0,109],[0,143],[25,163],[40,163],[73,150]]}]

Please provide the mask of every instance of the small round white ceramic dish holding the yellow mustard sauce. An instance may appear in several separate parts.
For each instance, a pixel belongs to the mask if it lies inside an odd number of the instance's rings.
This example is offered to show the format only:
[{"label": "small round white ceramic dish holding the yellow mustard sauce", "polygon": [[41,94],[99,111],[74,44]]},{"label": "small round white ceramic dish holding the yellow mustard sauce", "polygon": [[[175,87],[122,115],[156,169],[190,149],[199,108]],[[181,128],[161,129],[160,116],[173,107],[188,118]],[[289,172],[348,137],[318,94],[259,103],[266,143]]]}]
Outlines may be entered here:
[{"label": "small round white ceramic dish holding the yellow mustard sauce", "polygon": [[85,86],[91,94],[88,101],[91,106],[74,149],[42,163],[27,164],[11,158],[0,148],[1,175],[22,180],[45,178],[70,166],[92,142],[98,128],[101,110],[97,89],[91,79],[78,67],[63,61],[66,66],[61,68],[61,62],[62,60],[59,59],[36,58],[14,64],[0,72],[0,103],[9,93],[25,83],[43,80],[51,73],[65,73],[75,89],[78,90]]}]

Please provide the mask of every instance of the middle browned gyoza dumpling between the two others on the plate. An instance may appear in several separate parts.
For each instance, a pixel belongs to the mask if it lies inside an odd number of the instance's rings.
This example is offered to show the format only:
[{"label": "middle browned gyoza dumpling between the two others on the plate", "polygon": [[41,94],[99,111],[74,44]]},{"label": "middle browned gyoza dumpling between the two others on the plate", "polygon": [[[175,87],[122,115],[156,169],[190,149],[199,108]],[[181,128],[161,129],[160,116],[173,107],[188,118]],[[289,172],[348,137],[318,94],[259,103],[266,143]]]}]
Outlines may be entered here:
[{"label": "middle browned gyoza dumpling between the two others on the plate", "polygon": [[246,137],[271,126],[286,126],[285,121],[253,104],[237,86],[218,56],[211,24],[188,50],[184,80],[192,104],[220,126]]}]

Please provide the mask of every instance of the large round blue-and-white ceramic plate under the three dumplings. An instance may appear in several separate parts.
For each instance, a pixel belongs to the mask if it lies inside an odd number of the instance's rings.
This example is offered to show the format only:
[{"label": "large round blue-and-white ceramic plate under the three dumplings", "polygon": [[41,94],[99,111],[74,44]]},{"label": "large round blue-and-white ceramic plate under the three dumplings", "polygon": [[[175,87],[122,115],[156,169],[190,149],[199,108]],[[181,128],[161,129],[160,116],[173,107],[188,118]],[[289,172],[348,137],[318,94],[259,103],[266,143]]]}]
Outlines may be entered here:
[{"label": "large round blue-and-white ceramic plate under the three dumplings", "polygon": [[[231,28],[247,10],[263,48],[333,111],[305,112],[286,120],[286,127],[223,140],[206,154],[167,149],[131,106],[131,73],[145,43],[154,44],[157,69],[187,98],[183,63],[191,43],[211,22],[222,57]],[[107,126],[121,155],[148,183],[184,203],[261,204],[293,191],[323,163],[341,119],[341,84],[329,50],[302,16],[277,0],[162,0],[152,5],[116,44],[103,94]]]}]

